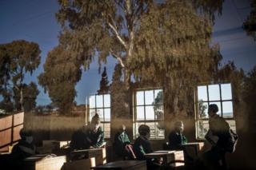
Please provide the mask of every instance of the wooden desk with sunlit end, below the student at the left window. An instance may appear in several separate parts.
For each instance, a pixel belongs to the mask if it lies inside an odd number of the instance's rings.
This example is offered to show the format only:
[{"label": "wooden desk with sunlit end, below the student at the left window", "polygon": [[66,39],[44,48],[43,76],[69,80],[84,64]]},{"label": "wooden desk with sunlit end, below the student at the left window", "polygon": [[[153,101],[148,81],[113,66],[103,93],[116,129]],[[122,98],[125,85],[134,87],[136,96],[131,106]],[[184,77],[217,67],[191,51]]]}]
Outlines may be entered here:
[{"label": "wooden desk with sunlit end, below the student at the left window", "polygon": [[95,164],[106,164],[106,148],[91,148],[70,152],[71,160],[89,159],[95,157]]}]

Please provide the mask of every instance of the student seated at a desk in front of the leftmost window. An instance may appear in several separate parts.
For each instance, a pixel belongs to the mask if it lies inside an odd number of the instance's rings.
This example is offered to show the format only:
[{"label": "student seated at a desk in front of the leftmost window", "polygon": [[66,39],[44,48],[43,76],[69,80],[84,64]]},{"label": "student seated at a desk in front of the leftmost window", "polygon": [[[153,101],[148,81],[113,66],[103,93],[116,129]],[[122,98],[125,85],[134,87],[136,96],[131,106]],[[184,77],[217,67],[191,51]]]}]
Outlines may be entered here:
[{"label": "student seated at a desk in front of the leftmost window", "polygon": [[92,117],[90,125],[83,126],[73,133],[70,148],[72,150],[101,148],[104,143],[104,132],[99,124],[100,120],[96,113]]}]

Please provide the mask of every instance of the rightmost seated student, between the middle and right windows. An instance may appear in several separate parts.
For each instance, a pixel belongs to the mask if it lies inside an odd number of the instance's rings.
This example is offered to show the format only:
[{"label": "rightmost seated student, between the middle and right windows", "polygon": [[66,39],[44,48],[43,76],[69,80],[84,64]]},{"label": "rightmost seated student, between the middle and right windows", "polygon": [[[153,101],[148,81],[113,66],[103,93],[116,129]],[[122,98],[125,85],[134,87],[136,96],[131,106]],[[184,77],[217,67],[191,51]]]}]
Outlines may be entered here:
[{"label": "rightmost seated student, between the middle and right windows", "polygon": [[186,144],[186,136],[182,134],[184,125],[182,121],[176,121],[174,124],[174,131],[169,134],[169,148],[171,150],[182,149],[182,144]]}]

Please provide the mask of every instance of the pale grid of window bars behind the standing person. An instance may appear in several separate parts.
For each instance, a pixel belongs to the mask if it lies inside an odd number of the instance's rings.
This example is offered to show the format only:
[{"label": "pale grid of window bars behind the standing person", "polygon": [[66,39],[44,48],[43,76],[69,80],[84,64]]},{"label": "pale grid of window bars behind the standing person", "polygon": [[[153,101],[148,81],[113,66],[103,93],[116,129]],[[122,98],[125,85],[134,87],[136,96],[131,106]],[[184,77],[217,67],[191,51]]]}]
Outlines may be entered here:
[{"label": "pale grid of window bars behind the standing person", "polygon": [[[206,94],[207,94],[207,101],[202,101],[202,103],[207,103],[207,105],[209,106],[210,103],[216,103],[216,102],[219,102],[220,103],[220,107],[219,107],[219,114],[221,117],[223,117],[226,121],[234,121],[234,105],[233,105],[233,97],[231,96],[230,99],[225,99],[225,100],[222,100],[222,85],[224,84],[217,84],[218,85],[218,89],[219,89],[219,100],[212,100],[210,101],[210,94],[209,94],[209,85],[202,85],[202,86],[206,86]],[[200,85],[201,86],[201,85]],[[198,86],[199,87],[199,86]],[[208,121],[209,121],[209,117],[201,117],[199,115],[199,101],[198,101],[198,89],[196,90],[197,91],[197,99],[196,99],[196,138],[197,139],[203,139],[202,136],[199,136],[198,135],[198,123],[200,123],[200,121],[204,122],[204,121],[207,121],[207,124],[208,124]],[[230,85],[230,91],[232,93],[232,86]],[[223,115],[223,102],[225,101],[230,101],[231,104],[232,104],[232,115],[231,117],[224,117]],[[208,109],[208,107],[206,108]],[[232,128],[232,127],[231,127]],[[235,121],[234,121],[234,127],[235,128]],[[235,130],[235,129],[234,129]]]}]

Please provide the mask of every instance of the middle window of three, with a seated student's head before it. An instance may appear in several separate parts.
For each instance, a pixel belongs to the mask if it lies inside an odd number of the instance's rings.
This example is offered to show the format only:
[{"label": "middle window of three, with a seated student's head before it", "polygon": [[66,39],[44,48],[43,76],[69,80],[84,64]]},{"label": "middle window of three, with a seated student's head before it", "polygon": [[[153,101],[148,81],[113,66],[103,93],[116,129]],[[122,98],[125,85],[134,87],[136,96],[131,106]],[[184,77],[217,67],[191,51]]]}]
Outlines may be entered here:
[{"label": "middle window of three, with a seated student's head before it", "polygon": [[150,126],[150,139],[164,139],[162,89],[138,90],[134,93],[134,138],[140,125]]}]

